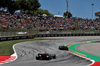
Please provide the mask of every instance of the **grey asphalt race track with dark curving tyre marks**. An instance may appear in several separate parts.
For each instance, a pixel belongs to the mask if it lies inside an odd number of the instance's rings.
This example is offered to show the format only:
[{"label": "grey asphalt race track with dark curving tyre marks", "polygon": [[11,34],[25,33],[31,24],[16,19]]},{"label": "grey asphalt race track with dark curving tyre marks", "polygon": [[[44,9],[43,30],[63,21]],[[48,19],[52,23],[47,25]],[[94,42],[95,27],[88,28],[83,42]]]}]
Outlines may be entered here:
[{"label": "grey asphalt race track with dark curving tyre marks", "polygon": [[[100,37],[67,37],[60,40],[42,40],[18,43],[15,50],[18,59],[0,66],[87,66],[92,62],[67,51],[59,50],[58,47],[66,44],[72,44],[83,41],[100,41]],[[85,50],[85,47],[84,49]],[[38,53],[56,54],[57,59],[49,61],[36,60]]]}]

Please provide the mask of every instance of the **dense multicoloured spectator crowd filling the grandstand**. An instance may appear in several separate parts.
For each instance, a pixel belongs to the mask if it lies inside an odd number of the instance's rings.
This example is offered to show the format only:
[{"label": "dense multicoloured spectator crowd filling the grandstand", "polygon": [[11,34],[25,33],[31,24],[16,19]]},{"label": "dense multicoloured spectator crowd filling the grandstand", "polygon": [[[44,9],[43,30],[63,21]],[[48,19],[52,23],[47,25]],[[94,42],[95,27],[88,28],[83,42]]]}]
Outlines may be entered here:
[{"label": "dense multicoloured spectator crowd filling the grandstand", "polygon": [[0,30],[100,30],[100,22],[82,18],[58,18],[9,13],[0,15]]}]

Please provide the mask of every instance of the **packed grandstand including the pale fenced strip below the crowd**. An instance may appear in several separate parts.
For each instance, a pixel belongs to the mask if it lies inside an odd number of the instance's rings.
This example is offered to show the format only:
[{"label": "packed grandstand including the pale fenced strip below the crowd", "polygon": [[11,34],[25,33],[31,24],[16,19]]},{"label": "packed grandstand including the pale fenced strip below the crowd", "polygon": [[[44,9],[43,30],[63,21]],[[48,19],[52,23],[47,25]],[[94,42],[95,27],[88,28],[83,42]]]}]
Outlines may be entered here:
[{"label": "packed grandstand including the pale fenced strip below the crowd", "polygon": [[29,14],[5,14],[0,16],[0,35],[27,34],[67,34],[67,33],[100,33],[98,20],[82,18],[55,18],[46,16],[40,18]]}]

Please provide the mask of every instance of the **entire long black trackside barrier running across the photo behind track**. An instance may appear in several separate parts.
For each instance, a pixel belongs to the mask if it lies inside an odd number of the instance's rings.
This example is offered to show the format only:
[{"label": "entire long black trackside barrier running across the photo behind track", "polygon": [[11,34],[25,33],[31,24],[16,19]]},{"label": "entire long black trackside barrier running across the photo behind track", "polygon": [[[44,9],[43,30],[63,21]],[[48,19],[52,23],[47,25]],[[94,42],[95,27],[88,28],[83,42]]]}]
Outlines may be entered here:
[{"label": "entire long black trackside barrier running across the photo behind track", "polygon": [[31,39],[34,37],[66,37],[66,36],[100,36],[100,33],[94,34],[29,34],[22,36],[12,36],[12,37],[0,37],[0,41],[8,41],[8,40],[19,40],[19,39]]}]

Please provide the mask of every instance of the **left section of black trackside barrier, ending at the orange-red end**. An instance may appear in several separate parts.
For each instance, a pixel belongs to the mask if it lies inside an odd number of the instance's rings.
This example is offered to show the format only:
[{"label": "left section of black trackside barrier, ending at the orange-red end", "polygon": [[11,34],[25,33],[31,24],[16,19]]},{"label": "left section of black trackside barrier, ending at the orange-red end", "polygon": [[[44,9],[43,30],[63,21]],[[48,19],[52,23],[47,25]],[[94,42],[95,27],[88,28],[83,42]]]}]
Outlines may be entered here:
[{"label": "left section of black trackside barrier, ending at the orange-red end", "polygon": [[13,37],[0,37],[0,41],[9,41],[9,40],[19,40],[19,39],[31,39],[34,38],[35,35],[27,35],[27,36],[13,36]]}]

